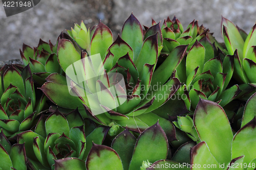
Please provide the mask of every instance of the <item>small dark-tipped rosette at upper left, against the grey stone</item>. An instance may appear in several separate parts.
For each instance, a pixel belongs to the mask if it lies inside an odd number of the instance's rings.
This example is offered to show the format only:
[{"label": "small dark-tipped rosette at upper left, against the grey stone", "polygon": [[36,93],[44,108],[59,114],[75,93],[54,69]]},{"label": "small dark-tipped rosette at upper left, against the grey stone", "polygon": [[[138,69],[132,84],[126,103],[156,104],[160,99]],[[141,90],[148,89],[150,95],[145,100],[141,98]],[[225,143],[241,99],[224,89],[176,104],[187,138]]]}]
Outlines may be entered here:
[{"label": "small dark-tipped rosette at upper left, against the grey stone", "polygon": [[[61,33],[60,36],[62,35]],[[57,43],[53,45],[51,40],[47,43],[40,39],[37,47],[32,48],[23,44],[22,50],[19,50],[23,63],[29,64],[33,78],[39,85],[44,84],[45,79],[51,73],[61,74],[63,72],[57,60]]]}]

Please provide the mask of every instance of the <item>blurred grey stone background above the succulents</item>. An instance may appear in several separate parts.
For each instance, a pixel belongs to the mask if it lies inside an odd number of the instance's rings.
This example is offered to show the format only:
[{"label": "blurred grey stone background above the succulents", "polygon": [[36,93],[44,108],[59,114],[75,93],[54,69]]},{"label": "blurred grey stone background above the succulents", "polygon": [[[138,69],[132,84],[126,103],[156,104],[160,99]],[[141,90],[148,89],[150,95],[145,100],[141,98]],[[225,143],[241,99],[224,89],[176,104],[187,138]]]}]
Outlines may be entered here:
[{"label": "blurred grey stone background above the succulents", "polygon": [[101,19],[116,37],[132,12],[145,26],[151,25],[151,17],[163,21],[176,15],[183,27],[196,19],[222,42],[221,15],[248,33],[256,21],[256,1],[41,0],[34,8],[9,17],[0,2],[0,61],[20,59],[19,48],[23,43],[37,46],[40,38],[55,43],[61,31],[81,20],[92,27]]}]

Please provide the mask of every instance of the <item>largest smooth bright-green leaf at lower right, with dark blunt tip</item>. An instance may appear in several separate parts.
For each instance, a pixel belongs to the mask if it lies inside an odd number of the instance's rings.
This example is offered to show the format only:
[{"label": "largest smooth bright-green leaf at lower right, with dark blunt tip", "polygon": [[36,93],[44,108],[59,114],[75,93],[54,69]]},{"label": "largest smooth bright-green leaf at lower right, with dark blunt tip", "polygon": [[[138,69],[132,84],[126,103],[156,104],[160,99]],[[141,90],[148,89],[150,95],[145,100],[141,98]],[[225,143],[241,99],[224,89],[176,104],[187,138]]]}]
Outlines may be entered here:
[{"label": "largest smooth bright-green leaf at lower right, with dark blunt tip", "polygon": [[223,108],[214,102],[200,99],[195,110],[194,124],[201,141],[207,143],[216,160],[228,163],[233,134]]}]

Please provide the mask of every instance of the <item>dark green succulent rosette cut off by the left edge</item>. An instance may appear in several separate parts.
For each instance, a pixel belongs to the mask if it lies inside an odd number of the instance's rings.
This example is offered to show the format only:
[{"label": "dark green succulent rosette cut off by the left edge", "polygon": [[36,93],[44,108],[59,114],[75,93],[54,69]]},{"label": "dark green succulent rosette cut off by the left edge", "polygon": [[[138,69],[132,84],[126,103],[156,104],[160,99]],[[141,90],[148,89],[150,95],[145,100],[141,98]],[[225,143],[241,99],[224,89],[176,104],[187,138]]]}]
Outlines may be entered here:
[{"label": "dark green succulent rosette cut off by the left edge", "polygon": [[42,95],[36,102],[29,65],[24,68],[5,65],[0,75],[0,127],[10,137],[31,128],[36,113],[44,108],[46,96]]}]

